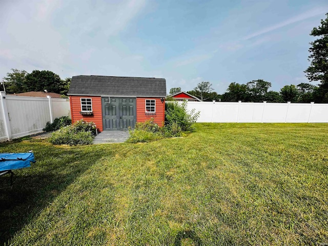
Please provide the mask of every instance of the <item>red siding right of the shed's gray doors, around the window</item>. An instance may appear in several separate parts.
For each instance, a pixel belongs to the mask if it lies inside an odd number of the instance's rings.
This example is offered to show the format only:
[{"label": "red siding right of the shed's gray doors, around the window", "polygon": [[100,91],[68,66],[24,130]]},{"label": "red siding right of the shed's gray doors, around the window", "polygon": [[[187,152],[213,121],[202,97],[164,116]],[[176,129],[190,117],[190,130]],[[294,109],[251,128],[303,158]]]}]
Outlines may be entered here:
[{"label": "red siding right of the shed's gray doors, around the window", "polygon": [[[156,100],[156,114],[148,115],[146,114],[146,99]],[[163,103],[160,98],[153,97],[137,97],[137,122],[144,122],[150,118],[154,118],[158,126],[162,127],[165,117],[165,101]]]}]

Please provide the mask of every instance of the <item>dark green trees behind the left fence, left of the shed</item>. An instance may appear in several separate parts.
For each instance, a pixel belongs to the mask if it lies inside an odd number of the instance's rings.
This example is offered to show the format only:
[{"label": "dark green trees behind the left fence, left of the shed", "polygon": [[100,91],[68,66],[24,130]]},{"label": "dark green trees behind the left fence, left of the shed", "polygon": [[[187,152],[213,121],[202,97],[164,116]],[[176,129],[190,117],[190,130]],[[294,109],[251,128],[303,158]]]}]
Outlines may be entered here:
[{"label": "dark green trees behind the left fence, left of the shed", "polygon": [[67,95],[71,78],[61,79],[58,74],[48,70],[33,70],[31,73],[25,70],[11,69],[2,79],[0,90],[4,89],[8,94],[29,91],[54,92]]}]

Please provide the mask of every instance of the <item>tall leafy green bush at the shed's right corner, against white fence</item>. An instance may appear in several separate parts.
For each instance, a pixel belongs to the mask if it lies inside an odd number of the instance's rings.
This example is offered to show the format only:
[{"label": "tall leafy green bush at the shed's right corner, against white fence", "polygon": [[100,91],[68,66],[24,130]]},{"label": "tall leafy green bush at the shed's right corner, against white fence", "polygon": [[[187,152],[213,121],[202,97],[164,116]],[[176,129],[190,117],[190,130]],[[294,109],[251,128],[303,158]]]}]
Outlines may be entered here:
[{"label": "tall leafy green bush at the shed's right corner, against white fence", "polygon": [[180,131],[193,132],[195,130],[193,124],[200,112],[195,112],[195,109],[188,112],[186,100],[181,105],[175,101],[167,103],[165,106],[165,126],[172,132],[172,135],[176,135]]}]

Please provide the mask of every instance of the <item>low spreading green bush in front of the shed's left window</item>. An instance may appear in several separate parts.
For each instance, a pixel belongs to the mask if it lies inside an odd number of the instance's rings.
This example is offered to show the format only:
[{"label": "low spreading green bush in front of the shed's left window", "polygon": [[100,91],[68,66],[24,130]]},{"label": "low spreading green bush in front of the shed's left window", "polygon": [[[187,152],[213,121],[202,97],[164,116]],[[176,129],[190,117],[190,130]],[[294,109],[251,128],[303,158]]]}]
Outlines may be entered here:
[{"label": "low spreading green bush in front of the shed's left window", "polygon": [[54,145],[91,145],[95,133],[96,125],[81,119],[52,133],[49,140]]}]

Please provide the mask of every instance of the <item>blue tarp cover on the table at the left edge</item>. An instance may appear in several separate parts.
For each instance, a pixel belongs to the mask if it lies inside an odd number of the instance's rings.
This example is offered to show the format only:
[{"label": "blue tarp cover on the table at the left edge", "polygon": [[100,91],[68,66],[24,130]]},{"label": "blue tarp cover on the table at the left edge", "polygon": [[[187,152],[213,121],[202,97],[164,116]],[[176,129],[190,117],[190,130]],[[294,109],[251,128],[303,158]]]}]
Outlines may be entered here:
[{"label": "blue tarp cover on the table at the left edge", "polygon": [[35,163],[33,153],[0,153],[0,171],[31,167]]}]

